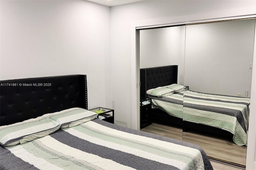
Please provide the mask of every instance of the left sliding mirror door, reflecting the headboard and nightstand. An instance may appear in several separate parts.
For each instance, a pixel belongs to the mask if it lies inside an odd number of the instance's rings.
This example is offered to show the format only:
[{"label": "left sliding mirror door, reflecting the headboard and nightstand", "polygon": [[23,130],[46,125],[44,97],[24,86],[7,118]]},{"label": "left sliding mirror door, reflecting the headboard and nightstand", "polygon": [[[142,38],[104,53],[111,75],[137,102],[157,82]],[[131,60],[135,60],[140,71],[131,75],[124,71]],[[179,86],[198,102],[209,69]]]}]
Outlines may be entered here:
[{"label": "left sliding mirror door, reflecting the headboard and nightstand", "polygon": [[[172,99],[160,92],[147,99],[146,91],[183,85],[185,26],[140,30],[139,34],[140,129],[182,140],[183,94]],[[170,108],[168,100],[176,103]]]}]

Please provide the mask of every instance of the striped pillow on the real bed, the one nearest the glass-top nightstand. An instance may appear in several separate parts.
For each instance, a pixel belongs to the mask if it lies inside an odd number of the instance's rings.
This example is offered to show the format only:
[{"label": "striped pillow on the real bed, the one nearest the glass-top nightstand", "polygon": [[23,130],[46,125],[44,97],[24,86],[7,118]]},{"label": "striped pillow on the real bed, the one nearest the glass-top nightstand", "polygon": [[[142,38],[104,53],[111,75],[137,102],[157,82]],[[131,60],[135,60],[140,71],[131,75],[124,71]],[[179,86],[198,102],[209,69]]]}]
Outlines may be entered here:
[{"label": "striped pillow on the real bed, the one nearest the glass-top nightstand", "polygon": [[60,128],[67,128],[91,121],[95,119],[98,114],[86,109],[74,107],[60,112],[48,113],[43,116],[60,123]]}]

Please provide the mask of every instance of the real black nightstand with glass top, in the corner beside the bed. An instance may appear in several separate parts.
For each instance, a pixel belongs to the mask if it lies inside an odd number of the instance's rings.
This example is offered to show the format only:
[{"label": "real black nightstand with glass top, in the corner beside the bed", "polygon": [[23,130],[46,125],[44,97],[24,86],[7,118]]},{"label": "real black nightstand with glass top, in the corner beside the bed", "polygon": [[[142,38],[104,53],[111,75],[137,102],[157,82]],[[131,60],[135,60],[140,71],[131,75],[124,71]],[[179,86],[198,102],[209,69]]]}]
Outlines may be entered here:
[{"label": "real black nightstand with glass top, in the corner beside the bed", "polygon": [[102,119],[103,121],[114,124],[114,110],[113,109],[107,109],[104,107],[96,107],[94,109],[90,109],[89,111],[98,113],[98,116],[97,116],[98,119]]}]

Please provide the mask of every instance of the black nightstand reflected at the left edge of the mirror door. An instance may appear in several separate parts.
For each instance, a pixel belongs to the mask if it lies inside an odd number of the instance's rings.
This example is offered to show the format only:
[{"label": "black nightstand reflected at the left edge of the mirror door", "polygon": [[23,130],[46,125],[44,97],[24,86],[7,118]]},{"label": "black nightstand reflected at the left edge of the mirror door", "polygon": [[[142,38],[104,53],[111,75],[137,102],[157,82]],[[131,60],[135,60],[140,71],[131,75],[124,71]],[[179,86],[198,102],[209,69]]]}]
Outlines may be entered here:
[{"label": "black nightstand reflected at the left edge of the mirror door", "polygon": [[152,124],[151,107],[152,100],[150,98],[140,98],[140,128],[144,128]]}]

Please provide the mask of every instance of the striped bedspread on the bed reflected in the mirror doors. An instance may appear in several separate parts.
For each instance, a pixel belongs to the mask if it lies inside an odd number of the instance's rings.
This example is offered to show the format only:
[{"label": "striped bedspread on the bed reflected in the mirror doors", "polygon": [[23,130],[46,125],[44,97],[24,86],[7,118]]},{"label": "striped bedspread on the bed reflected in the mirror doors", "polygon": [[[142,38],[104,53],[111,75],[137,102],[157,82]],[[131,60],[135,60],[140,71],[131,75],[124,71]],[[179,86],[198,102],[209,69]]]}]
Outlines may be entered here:
[{"label": "striped bedspread on the bed reflected in the mirror doors", "polygon": [[[183,95],[183,112],[177,112],[181,110]],[[250,98],[185,91],[153,97],[152,104],[185,121],[227,130],[234,134],[236,144],[247,145]]]}]

